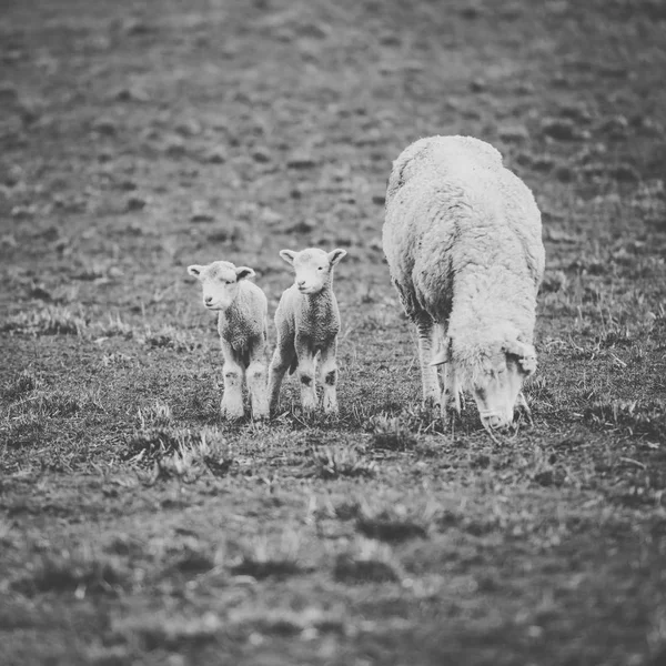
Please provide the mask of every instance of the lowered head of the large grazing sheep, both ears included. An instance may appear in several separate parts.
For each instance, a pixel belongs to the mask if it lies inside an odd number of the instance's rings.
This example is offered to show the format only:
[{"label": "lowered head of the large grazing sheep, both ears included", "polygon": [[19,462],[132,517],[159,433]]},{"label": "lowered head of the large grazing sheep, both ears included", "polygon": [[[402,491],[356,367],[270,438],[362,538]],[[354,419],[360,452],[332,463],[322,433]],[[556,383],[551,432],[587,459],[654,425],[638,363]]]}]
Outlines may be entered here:
[{"label": "lowered head of the large grazing sheep, both ears included", "polygon": [[[497,333],[497,332],[496,332]],[[481,421],[487,431],[504,430],[513,423],[514,410],[525,377],[536,370],[536,352],[514,330],[451,336],[433,365],[451,362],[461,387],[474,395]]]}]

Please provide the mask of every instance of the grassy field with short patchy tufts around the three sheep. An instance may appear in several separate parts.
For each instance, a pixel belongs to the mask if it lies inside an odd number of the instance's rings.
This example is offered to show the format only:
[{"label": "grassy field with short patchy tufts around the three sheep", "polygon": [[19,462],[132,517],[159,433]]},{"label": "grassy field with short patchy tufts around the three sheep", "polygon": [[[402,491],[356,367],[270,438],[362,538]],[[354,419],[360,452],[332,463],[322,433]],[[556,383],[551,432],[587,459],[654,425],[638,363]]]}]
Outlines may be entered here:
[{"label": "grassy field with short patchy tufts around the three sheep", "polygon": [[[4,0],[0,664],[666,662],[658,0]],[[381,249],[430,134],[547,252],[535,423],[422,413]],[[219,417],[190,263],[342,246],[339,418]],[[274,332],[271,332],[271,342]]]}]

